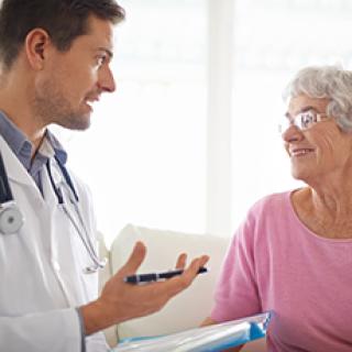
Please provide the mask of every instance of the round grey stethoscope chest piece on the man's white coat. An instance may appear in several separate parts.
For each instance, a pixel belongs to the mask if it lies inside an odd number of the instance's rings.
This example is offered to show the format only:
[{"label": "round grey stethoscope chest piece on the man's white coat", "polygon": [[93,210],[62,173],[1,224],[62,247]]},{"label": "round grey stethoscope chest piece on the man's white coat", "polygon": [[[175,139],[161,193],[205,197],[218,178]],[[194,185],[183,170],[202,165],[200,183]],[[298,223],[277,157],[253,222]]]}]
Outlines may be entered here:
[{"label": "round grey stethoscope chest piece on the man's white coat", "polygon": [[0,206],[0,233],[16,233],[24,222],[22,212],[13,201]]}]

